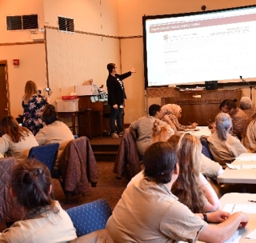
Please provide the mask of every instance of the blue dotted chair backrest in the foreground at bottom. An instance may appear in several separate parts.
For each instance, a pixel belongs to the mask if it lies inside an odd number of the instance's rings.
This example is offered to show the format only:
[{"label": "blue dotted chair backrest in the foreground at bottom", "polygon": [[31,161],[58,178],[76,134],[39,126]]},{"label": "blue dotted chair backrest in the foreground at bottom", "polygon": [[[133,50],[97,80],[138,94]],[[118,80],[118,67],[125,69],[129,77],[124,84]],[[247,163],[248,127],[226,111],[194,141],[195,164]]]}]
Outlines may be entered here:
[{"label": "blue dotted chair backrest in the foreground at bottom", "polygon": [[78,237],[81,237],[95,230],[105,229],[106,221],[112,214],[112,209],[106,199],[98,199],[67,209],[66,213],[69,214]]}]

